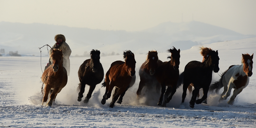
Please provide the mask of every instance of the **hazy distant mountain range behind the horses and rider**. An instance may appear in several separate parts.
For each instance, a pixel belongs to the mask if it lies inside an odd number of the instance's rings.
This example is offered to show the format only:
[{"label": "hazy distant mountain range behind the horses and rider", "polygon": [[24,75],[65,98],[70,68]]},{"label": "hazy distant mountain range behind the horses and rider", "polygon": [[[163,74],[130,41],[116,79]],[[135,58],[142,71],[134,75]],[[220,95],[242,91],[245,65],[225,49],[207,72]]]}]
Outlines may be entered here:
[{"label": "hazy distant mountain range behind the horses and rider", "polygon": [[[146,54],[149,50],[165,52],[172,46],[186,50],[195,45],[253,38],[235,31],[201,22],[165,22],[142,31],[100,30],[76,28],[41,23],[23,24],[0,22],[0,49],[18,51],[18,54],[40,56],[38,47],[53,46],[54,36],[63,34],[69,44],[71,56],[84,55],[98,49],[102,54],[122,54],[131,50],[135,54]],[[42,48],[42,56],[48,54]]]}]

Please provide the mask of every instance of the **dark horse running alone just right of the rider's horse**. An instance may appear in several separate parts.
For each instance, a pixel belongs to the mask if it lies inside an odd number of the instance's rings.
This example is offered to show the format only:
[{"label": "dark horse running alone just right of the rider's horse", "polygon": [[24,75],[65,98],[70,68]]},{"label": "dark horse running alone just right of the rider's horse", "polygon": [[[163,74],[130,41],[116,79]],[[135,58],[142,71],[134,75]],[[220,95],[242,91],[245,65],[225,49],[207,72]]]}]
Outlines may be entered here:
[{"label": "dark horse running alone just right of the rider's horse", "polygon": [[77,101],[81,101],[84,93],[85,85],[89,85],[90,89],[84,99],[84,103],[88,103],[92,96],[92,92],[96,85],[104,78],[103,67],[100,63],[100,51],[94,50],[90,52],[91,59],[85,60],[78,70],[78,77],[80,83],[77,90],[79,90]]}]

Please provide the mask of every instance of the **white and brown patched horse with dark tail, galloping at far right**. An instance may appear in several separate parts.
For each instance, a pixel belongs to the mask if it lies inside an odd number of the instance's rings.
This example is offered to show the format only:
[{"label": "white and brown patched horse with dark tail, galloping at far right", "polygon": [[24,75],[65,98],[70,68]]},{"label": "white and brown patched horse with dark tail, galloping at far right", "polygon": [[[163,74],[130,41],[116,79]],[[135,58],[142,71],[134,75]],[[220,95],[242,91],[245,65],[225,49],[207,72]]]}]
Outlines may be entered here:
[{"label": "white and brown patched horse with dark tail, galloping at far right", "polygon": [[234,89],[233,95],[228,101],[228,104],[233,104],[236,96],[242,92],[249,84],[249,77],[252,76],[252,61],[253,54],[242,54],[242,65],[231,65],[228,70],[223,72],[219,81],[211,84],[209,90],[219,92],[224,87],[223,93],[220,95],[220,100],[226,100]]}]

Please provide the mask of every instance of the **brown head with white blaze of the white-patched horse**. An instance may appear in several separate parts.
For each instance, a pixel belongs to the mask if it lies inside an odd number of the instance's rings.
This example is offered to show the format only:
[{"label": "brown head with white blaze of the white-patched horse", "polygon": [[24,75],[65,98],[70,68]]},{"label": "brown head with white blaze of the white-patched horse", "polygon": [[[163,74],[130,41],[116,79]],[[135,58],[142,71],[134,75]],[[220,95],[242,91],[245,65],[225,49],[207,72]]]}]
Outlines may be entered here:
[{"label": "brown head with white blaze of the white-patched horse", "polygon": [[252,76],[252,58],[253,54],[251,56],[249,54],[242,54],[243,71],[248,77]]}]

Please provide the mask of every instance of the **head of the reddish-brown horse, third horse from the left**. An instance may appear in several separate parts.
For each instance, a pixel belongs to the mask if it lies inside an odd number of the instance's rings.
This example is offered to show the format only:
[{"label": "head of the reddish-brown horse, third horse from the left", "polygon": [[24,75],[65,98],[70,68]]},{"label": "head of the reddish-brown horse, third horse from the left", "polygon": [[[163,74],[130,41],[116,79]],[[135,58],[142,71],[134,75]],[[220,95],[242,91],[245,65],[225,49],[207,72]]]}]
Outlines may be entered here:
[{"label": "head of the reddish-brown horse, third horse from the left", "polygon": [[130,74],[130,76],[134,76],[136,61],[134,58],[134,54],[130,50],[124,51],[124,60],[125,60],[126,71]]}]

